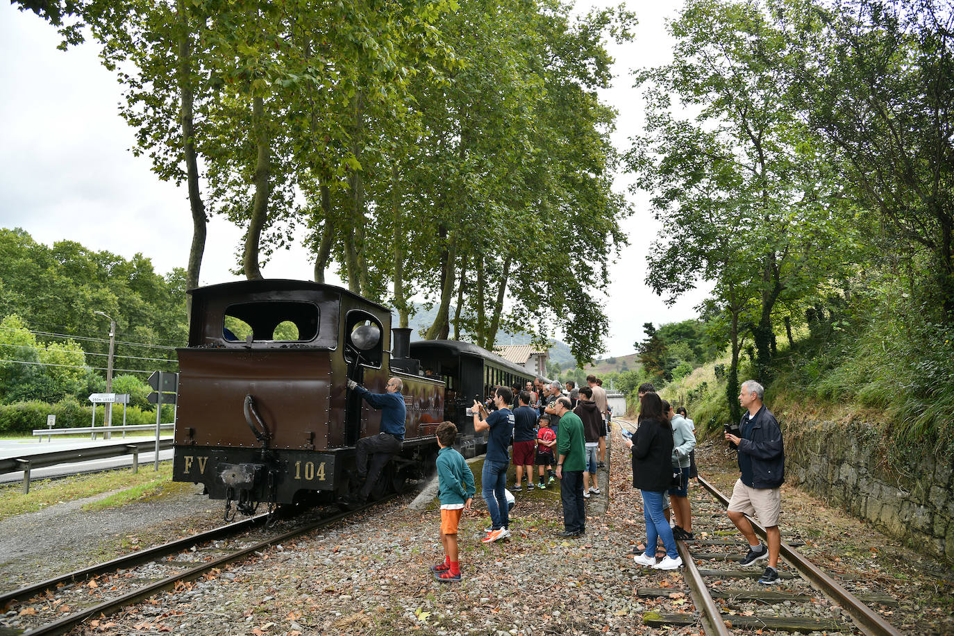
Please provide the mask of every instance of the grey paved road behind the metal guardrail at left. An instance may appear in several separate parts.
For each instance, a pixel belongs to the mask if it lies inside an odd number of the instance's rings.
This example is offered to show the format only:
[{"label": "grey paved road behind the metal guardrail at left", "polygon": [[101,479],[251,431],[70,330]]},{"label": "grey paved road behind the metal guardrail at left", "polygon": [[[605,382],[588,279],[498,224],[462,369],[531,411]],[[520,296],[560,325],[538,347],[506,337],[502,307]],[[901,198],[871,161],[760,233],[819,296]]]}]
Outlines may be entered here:
[{"label": "grey paved road behind the metal guardrail at left", "polygon": [[[162,438],[166,439],[165,437]],[[78,450],[80,448],[92,448],[93,446],[104,446],[118,443],[120,441],[154,441],[153,436],[133,436],[127,435],[124,439],[122,434],[114,434],[112,440],[56,440],[53,441],[35,441],[35,440],[0,440],[0,458],[23,457],[24,455],[34,455],[36,453],[51,453],[60,450]],[[173,459],[172,449],[159,451],[159,461],[164,462]],[[139,468],[152,469],[156,460],[156,453],[139,453]],[[90,462],[62,463],[56,466],[46,468],[34,468],[30,471],[30,481],[40,480],[50,477],[65,477],[67,475],[78,475],[81,473],[93,473],[97,470],[108,470],[110,468],[120,468],[123,466],[132,466],[133,456],[123,455],[111,457],[102,460],[91,460]],[[0,483],[20,482],[23,480],[23,471],[15,473],[4,473],[0,475]]]}]

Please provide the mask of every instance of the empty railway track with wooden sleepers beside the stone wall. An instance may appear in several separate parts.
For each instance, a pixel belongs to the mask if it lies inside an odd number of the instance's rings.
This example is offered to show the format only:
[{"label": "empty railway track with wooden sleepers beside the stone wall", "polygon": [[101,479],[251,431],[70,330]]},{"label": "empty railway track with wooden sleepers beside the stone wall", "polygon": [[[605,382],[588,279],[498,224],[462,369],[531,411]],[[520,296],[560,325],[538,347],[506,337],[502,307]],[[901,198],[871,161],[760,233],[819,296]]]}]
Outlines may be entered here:
[{"label": "empty railway track with wooden sleepers beside the stone wall", "polygon": [[[706,634],[727,635],[742,630],[778,632],[840,632],[899,636],[898,629],[887,623],[867,604],[897,605],[891,597],[853,590],[849,579],[837,581],[813,564],[796,549],[797,542],[782,542],[778,572],[780,585],[768,589],[756,583],[765,562],[752,565],[725,566],[742,558],[738,549],[738,532],[725,515],[729,500],[701,477],[699,484],[711,499],[693,501],[696,525],[713,527],[708,539],[686,544],[677,542],[685,564],[683,574],[698,615],[691,613],[643,616],[646,625],[654,627],[692,626],[701,622]],[[695,489],[698,493],[699,489]],[[701,521],[705,520],[705,521]],[[765,529],[753,521],[757,534],[765,538]],[[720,539],[719,537],[725,537]],[[726,550],[729,551],[726,551]],[[721,566],[720,566],[721,565]],[[670,597],[672,588],[639,588],[643,597]],[[818,616],[819,607],[828,607],[828,616]],[[803,608],[812,607],[811,611]],[[779,609],[780,608],[780,609]],[[799,609],[802,608],[802,609]]]}]

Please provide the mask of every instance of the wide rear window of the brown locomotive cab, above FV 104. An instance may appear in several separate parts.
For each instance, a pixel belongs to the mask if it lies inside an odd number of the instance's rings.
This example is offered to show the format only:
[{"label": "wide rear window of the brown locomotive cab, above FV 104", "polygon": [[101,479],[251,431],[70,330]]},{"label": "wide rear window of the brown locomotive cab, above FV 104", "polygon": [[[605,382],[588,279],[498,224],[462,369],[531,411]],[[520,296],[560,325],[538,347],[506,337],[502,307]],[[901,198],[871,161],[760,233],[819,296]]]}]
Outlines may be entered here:
[{"label": "wide rear window of the brown locomotive cab, above FV 104", "polygon": [[308,342],[318,336],[320,312],[311,302],[241,302],[225,310],[222,338],[229,342]]}]

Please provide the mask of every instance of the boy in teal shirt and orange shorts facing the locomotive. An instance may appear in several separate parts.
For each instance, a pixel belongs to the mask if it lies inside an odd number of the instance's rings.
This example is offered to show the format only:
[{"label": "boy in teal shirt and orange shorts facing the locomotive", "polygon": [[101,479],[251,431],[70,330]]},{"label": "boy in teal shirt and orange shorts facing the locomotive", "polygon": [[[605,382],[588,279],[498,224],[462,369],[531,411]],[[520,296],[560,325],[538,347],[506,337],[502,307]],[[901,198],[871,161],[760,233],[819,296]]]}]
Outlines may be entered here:
[{"label": "boy in teal shirt and orange shorts facing the locomotive", "polygon": [[474,474],[464,460],[464,456],[450,446],[457,439],[457,427],[451,421],[445,421],[437,427],[437,444],[441,450],[437,453],[438,498],[441,501],[441,543],[444,544],[445,559],[431,567],[434,576],[441,583],[461,580],[461,563],[457,551],[457,525],[465,510],[473,503]]}]

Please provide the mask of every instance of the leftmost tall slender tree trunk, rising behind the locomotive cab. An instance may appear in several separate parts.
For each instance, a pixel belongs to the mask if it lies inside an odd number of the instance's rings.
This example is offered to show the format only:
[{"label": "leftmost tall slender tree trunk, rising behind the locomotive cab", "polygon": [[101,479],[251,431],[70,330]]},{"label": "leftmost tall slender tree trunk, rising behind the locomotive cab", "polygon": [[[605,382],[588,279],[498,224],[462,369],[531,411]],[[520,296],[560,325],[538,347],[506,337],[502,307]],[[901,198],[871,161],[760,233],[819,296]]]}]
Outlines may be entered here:
[{"label": "leftmost tall slender tree trunk, rising behind the locomotive cab", "polygon": [[[192,245],[189,248],[189,267],[186,270],[185,284],[187,289],[198,287],[198,273],[202,268],[202,255],[205,253],[205,233],[208,217],[205,215],[205,204],[198,190],[198,161],[196,153],[195,129],[193,128],[193,105],[195,96],[192,87],[192,50],[189,46],[189,15],[185,1],[177,0],[179,32],[178,40],[178,88],[179,88],[179,123],[182,126],[182,153],[185,159],[186,174],[189,183],[189,208],[192,211]],[[192,318],[192,295],[187,294],[186,320]]]}]

